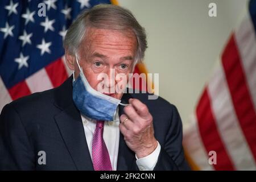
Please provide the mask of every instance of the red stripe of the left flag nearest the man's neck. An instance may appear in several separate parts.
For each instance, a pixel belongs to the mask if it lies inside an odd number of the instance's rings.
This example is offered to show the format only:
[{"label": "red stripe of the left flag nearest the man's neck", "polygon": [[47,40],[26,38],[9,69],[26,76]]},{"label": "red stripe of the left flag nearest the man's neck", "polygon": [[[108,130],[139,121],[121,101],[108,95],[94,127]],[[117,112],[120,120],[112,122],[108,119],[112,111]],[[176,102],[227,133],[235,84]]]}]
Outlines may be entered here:
[{"label": "red stripe of the left flag nearest the man's neck", "polygon": [[53,87],[60,86],[68,78],[68,73],[61,58],[47,65],[45,69]]}]

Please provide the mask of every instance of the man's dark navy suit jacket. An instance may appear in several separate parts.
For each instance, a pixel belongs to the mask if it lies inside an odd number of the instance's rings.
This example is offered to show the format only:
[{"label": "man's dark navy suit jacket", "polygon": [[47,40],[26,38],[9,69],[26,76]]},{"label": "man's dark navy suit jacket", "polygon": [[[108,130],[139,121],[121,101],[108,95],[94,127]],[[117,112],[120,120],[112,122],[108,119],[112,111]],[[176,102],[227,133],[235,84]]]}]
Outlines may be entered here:
[{"label": "man's dark navy suit jacket", "polygon": [[[189,169],[182,148],[182,126],[174,105],[148,94],[123,94],[122,102],[137,98],[154,119],[161,151],[155,170]],[[123,107],[119,107],[119,114]],[[39,151],[46,164],[38,164]],[[135,154],[120,133],[117,170],[138,170]],[[20,98],[0,115],[0,169],[93,170],[81,116],[72,99],[72,77],[61,86]]]}]

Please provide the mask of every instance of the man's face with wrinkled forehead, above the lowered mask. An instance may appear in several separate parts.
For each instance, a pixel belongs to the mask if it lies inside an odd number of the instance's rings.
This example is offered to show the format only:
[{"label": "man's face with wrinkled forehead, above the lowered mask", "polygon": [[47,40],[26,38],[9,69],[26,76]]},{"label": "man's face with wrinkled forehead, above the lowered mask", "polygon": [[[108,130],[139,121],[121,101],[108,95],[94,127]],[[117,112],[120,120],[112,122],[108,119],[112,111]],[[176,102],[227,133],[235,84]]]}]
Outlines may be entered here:
[{"label": "man's face with wrinkled forehead, above the lowered mask", "polygon": [[[89,28],[80,46],[79,64],[90,86],[99,92],[102,90],[98,88],[104,87],[104,94],[120,100],[123,93],[116,90],[120,80],[115,76],[123,73],[128,80],[128,74],[133,71],[136,47],[137,40],[133,32]],[[75,73],[77,77],[77,64]],[[108,75],[108,79],[102,78],[102,73]]]}]

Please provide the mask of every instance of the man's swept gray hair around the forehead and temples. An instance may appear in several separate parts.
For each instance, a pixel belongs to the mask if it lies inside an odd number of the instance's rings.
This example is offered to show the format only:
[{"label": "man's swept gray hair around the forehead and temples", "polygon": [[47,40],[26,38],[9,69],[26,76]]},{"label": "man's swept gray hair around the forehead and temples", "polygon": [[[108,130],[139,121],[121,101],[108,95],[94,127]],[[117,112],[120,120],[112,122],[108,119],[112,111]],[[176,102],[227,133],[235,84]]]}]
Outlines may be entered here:
[{"label": "man's swept gray hair around the forehead and temples", "polygon": [[83,11],[68,28],[63,43],[65,51],[75,55],[88,27],[133,31],[137,38],[135,63],[143,60],[147,48],[146,33],[129,10],[116,5],[101,4]]}]

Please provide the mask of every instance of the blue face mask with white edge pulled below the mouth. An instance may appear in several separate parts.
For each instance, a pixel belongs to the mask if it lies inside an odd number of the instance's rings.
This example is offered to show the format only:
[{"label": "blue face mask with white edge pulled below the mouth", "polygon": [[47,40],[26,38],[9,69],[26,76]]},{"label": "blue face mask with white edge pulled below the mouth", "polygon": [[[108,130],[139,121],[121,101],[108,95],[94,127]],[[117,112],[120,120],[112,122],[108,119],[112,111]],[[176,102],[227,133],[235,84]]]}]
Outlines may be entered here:
[{"label": "blue face mask with white edge pulled below the mouth", "polygon": [[107,96],[94,90],[86,80],[82,68],[79,65],[76,55],[76,63],[79,66],[80,73],[77,79],[73,73],[73,101],[77,109],[88,118],[114,121],[115,112],[121,100]]}]

